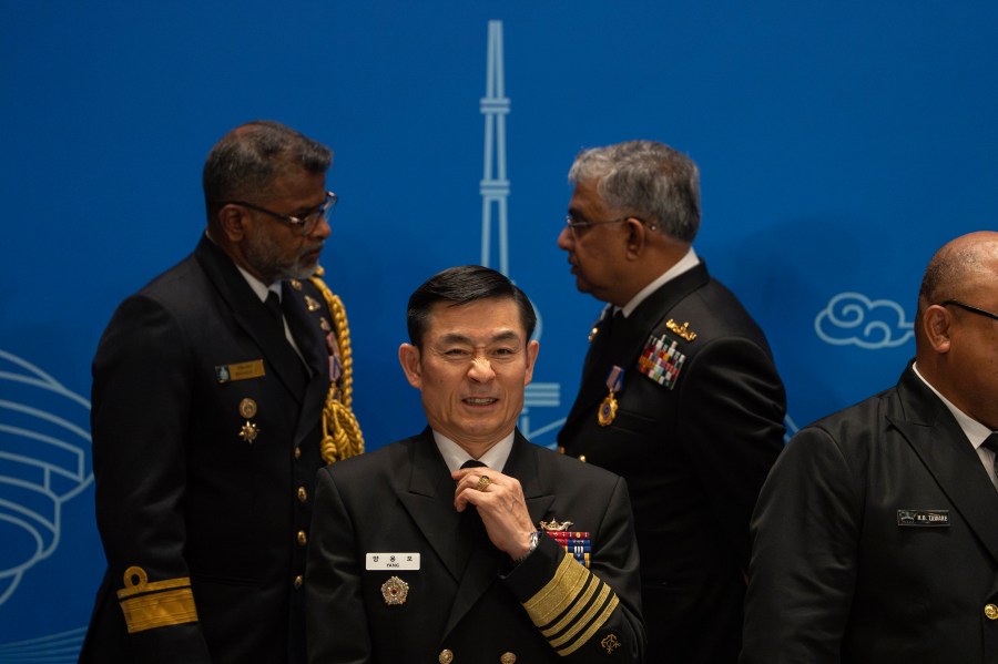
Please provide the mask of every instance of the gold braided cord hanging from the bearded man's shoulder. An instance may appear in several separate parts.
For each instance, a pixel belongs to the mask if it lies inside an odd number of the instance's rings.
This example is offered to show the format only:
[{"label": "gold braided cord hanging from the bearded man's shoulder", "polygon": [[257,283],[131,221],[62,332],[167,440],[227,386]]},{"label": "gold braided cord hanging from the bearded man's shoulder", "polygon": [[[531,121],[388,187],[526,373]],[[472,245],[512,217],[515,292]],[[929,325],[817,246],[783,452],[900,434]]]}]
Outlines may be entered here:
[{"label": "gold braided cord hanging from the bearded man's shoulder", "polygon": [[323,461],[334,463],[340,459],[356,457],[364,452],[364,436],[360,433],[360,425],[350,410],[354,391],[354,359],[350,351],[350,329],[347,327],[346,309],[343,302],[334,295],[323,282],[323,269],[318,268],[309,282],[323,294],[323,298],[329,306],[333,315],[333,329],[336,341],[339,345],[339,359],[343,362],[343,389],[340,398],[336,398],[336,385],[329,386],[326,395],[326,405],[323,407],[323,441],[319,443],[319,452]]}]

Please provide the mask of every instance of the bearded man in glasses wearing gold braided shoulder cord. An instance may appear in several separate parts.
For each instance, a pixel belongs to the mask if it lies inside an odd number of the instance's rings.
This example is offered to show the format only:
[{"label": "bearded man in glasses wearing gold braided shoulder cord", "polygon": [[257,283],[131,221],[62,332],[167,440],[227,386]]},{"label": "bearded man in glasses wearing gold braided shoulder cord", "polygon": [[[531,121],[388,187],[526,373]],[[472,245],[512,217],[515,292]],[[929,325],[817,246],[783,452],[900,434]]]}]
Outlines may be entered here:
[{"label": "bearded man in glasses wearing gold braided shoulder cord", "polygon": [[104,331],[92,430],[108,572],[81,662],[305,660],[315,473],[363,443],[346,319],[313,277],[330,159],[277,123],[230,132],[205,163],[194,253]]}]

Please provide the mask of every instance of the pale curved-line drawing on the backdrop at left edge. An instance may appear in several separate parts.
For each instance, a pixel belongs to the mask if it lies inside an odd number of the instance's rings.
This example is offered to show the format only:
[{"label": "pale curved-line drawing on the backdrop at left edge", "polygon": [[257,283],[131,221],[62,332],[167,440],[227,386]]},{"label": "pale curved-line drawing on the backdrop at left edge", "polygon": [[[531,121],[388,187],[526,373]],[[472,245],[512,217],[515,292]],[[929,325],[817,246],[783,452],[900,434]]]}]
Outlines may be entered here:
[{"label": "pale curved-line drawing on the backdrop at left edge", "polygon": [[62,503],[93,482],[90,401],[0,349],[0,604],[59,546]]}]

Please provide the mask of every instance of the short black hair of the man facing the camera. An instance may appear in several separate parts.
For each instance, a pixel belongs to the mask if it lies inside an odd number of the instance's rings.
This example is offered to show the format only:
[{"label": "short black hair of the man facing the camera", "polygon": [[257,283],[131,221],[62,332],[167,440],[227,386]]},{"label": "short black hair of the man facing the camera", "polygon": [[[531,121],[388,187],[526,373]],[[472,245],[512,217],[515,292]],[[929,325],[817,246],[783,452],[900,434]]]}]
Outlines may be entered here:
[{"label": "short black hair of the man facing the camera", "polygon": [[529,339],[537,327],[537,313],[530,298],[516,286],[509,277],[481,265],[460,265],[449,267],[427,279],[409,297],[406,310],[406,326],[409,329],[409,343],[417,348],[422,347],[430,309],[438,302],[460,306],[479,299],[511,299],[520,310],[520,323]]}]

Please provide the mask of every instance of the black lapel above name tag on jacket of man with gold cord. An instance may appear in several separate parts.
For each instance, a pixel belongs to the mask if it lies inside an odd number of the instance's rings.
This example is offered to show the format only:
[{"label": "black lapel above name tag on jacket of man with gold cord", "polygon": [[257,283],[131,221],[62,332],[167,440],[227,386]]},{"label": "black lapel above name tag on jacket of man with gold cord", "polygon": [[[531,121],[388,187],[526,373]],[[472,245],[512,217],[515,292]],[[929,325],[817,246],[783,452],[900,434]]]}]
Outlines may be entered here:
[{"label": "black lapel above name tag on jacket of man with gold cord", "polygon": [[235,263],[207,237],[201,238],[194,255],[228,304],[236,323],[256,343],[288,391],[301,401],[305,388],[302,360]]}]

